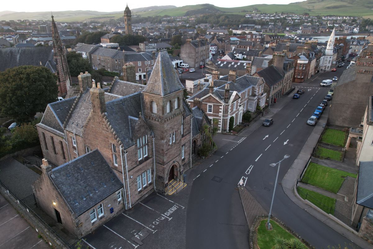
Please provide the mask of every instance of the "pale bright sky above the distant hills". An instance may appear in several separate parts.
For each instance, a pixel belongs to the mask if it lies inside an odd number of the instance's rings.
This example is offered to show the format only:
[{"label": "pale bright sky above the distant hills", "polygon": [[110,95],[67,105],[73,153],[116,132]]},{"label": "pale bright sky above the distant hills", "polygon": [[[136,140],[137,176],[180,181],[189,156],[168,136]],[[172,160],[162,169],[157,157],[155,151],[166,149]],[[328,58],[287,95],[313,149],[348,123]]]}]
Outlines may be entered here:
[{"label": "pale bright sky above the distant hills", "polygon": [[[304,0],[261,0],[260,4],[288,4],[294,3]],[[96,11],[103,11],[103,12],[116,12],[122,11],[125,8],[125,2],[119,3],[112,3],[112,4],[99,4],[100,2],[96,2],[97,4],[93,4],[92,0],[64,0],[64,1],[44,1],[42,4],[38,4],[41,2],[38,1],[29,1],[29,0],[18,0],[16,2],[13,1],[3,1],[1,3],[0,12],[3,10],[11,10],[17,12],[41,12],[41,11],[63,11],[63,10],[96,10]],[[102,3],[102,2],[101,2]],[[141,7],[148,7],[154,6],[157,1],[150,1],[150,0],[143,0],[138,2],[128,1],[128,7],[130,9],[136,9]],[[184,5],[194,5],[194,4],[202,4],[202,3],[211,3],[211,2],[201,2],[198,0],[188,0],[188,1],[175,1],[175,0],[163,0],[162,5],[174,5],[176,7],[181,7]],[[257,1],[235,1],[230,2],[226,0],[215,0],[213,3],[215,6],[219,7],[239,7],[239,6],[246,6],[250,4],[258,4]],[[117,7],[114,7],[117,6]],[[89,7],[89,9],[88,9]]]}]

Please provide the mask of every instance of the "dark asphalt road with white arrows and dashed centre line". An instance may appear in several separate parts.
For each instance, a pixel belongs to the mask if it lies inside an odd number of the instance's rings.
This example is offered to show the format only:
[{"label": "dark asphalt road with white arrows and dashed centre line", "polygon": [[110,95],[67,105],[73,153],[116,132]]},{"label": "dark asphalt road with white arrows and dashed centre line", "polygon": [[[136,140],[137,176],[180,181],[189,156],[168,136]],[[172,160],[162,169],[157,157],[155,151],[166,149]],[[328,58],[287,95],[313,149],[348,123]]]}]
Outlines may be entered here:
[{"label": "dark asphalt road with white arrows and dashed centre line", "polygon": [[[281,183],[313,131],[306,124],[307,119],[329,90],[320,87],[320,82],[339,77],[345,67],[314,76],[308,84],[299,84],[305,86],[305,93],[276,113],[272,126],[258,128],[194,180],[186,217],[186,248],[248,248],[245,216],[235,187],[242,178],[245,187],[269,211],[277,172],[277,167],[269,165],[285,154],[290,155],[280,167],[278,182]],[[220,182],[212,180],[216,176],[222,178]],[[293,203],[280,185],[272,213],[316,248],[351,244]]]}]

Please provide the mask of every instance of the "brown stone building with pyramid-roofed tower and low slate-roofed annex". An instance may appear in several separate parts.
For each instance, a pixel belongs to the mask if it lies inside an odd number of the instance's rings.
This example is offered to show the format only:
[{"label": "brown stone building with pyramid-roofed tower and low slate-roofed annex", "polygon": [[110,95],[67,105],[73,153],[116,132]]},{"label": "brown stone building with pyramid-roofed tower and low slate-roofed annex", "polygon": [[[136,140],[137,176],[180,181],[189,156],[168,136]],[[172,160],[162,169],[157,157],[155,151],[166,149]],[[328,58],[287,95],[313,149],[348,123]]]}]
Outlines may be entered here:
[{"label": "brown stone building with pyramid-roofed tower and low slate-roofed annex", "polygon": [[184,101],[166,50],[147,85],[116,78],[102,89],[88,73],[78,79],[79,95],[48,104],[37,124],[46,160],[33,189],[48,215],[82,237],[153,191],[182,189],[211,124]]}]

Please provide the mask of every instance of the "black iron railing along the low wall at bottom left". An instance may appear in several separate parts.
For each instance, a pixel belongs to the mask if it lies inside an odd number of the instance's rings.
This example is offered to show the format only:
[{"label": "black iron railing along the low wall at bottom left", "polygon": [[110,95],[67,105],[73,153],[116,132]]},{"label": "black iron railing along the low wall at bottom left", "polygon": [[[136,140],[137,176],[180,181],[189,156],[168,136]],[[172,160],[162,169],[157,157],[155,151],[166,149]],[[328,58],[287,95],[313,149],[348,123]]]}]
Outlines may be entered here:
[{"label": "black iron railing along the low wall at bottom left", "polygon": [[[34,206],[36,206],[36,200],[35,200],[35,196],[34,194],[32,195],[29,195],[23,199],[20,199],[18,198],[18,196],[16,196],[15,193],[12,192],[12,190],[10,190],[2,181],[0,181],[0,186],[2,186],[7,193],[9,193],[10,195],[12,195],[16,200],[17,202],[22,205],[24,208],[27,209],[27,211],[35,218],[37,219],[40,224],[43,226],[43,228],[45,230],[47,230],[51,236],[53,236],[54,238],[56,238],[56,240],[58,242],[61,243],[61,245],[67,249],[74,249],[73,246],[70,246],[69,243],[67,243],[61,236],[59,236],[46,222],[43,221],[42,218],[40,218],[39,215],[37,215],[32,209],[34,208]],[[28,204],[26,204],[28,203]],[[34,206],[33,206],[34,205]],[[32,208],[31,208],[32,206]]]}]

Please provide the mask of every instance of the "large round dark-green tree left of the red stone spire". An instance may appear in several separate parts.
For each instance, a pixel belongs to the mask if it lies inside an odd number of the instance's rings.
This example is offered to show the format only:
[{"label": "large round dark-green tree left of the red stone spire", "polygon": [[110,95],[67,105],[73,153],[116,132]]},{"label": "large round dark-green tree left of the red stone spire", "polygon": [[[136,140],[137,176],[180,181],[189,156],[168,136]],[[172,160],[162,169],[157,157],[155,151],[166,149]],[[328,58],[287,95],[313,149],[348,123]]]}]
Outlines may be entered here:
[{"label": "large round dark-green tree left of the red stone spire", "polygon": [[0,112],[28,122],[58,94],[57,76],[43,66],[18,66],[0,73]]}]

